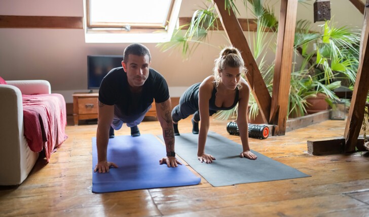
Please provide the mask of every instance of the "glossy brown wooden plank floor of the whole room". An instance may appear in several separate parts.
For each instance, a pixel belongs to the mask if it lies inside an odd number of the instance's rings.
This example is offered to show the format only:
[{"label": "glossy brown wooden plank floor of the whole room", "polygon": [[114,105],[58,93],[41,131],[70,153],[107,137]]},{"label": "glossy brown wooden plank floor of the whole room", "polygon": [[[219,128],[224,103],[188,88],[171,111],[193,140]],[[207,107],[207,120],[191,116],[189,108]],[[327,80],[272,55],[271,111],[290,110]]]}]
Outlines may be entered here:
[{"label": "glossy brown wooden plank floor of the whole room", "polygon": [[[226,124],[212,120],[210,130],[240,143],[240,137],[228,135]],[[91,192],[96,127],[67,126],[69,138],[49,164],[39,159],[23,184],[0,187],[0,216],[369,216],[369,153],[307,153],[307,139],[342,136],[345,121],[325,121],[266,140],[250,138],[253,150],[308,178],[226,187],[212,187],[202,178],[195,186],[104,194]],[[143,122],[140,130],[161,133],[157,121]],[[179,123],[179,131],[191,132],[190,119]],[[129,135],[129,129],[116,135]]]}]

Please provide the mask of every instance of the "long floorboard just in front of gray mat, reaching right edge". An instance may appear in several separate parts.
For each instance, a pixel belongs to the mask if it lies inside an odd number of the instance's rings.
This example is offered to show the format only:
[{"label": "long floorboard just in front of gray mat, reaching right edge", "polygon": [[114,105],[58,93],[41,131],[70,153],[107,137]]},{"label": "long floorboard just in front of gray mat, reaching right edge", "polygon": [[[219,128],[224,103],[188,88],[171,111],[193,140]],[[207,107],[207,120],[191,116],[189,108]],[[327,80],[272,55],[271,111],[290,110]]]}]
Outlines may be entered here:
[{"label": "long floorboard just in front of gray mat, reaching right edge", "polygon": [[[278,202],[291,199],[314,198],[324,195],[345,194],[346,192],[367,190],[369,179],[347,181],[334,184],[317,184],[310,180],[299,183],[301,179],[264,182],[260,184],[243,184],[236,186],[189,189],[186,192],[152,193],[155,203],[163,214],[181,213],[188,210],[207,210],[224,207],[238,207],[259,204],[265,201]],[[204,205],[206,204],[206,205]]]}]

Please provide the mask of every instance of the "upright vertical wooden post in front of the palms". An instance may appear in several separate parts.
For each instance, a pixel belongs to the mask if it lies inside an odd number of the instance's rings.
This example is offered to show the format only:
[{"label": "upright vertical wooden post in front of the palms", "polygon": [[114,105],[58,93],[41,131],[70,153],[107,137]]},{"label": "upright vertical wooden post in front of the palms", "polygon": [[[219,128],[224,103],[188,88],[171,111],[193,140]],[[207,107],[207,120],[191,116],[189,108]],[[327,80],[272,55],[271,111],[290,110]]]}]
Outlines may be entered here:
[{"label": "upright vertical wooden post in front of the palms", "polygon": [[270,124],[277,125],[274,135],[284,135],[286,132],[297,5],[298,0],[281,1],[270,113],[271,120],[269,121]]}]

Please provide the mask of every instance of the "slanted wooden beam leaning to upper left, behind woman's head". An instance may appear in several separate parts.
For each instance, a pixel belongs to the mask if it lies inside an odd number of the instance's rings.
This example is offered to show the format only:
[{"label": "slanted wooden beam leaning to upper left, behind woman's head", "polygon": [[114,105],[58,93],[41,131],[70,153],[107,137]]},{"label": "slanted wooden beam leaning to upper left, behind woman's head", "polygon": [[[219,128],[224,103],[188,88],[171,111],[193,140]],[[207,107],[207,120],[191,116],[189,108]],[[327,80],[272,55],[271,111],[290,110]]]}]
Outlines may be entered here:
[{"label": "slanted wooden beam leaning to upper left, behind woman's head", "polygon": [[246,37],[242,31],[242,28],[235,16],[234,12],[225,8],[225,0],[213,0],[216,11],[218,12],[220,22],[227,33],[227,36],[231,43],[241,51],[242,58],[245,62],[245,67],[248,69],[246,74],[246,80],[250,85],[253,96],[259,110],[262,114],[263,121],[268,123],[270,114],[271,97],[265,84],[262,74],[259,71],[250,47],[248,46]]}]

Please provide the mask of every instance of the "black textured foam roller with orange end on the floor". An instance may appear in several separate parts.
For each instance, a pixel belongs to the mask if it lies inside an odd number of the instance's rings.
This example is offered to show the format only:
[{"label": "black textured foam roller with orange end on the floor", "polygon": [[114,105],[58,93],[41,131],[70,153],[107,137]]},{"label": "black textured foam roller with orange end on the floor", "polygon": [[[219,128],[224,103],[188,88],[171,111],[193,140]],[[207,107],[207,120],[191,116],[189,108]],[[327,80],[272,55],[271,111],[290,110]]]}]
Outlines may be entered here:
[{"label": "black textured foam roller with orange end on the floor", "polygon": [[[227,124],[227,132],[231,135],[240,135],[237,123],[229,122]],[[269,136],[269,127],[261,124],[248,124],[248,137],[256,139],[266,139]]]}]

